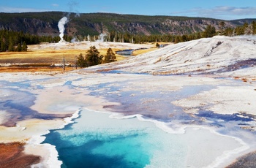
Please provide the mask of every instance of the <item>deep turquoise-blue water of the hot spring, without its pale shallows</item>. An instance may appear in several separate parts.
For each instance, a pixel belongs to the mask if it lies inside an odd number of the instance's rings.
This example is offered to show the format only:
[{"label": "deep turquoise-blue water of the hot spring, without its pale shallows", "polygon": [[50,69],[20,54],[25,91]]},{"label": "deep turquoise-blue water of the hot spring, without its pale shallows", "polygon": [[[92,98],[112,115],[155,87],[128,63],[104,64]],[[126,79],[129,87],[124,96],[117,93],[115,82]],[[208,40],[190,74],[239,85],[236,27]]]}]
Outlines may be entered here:
[{"label": "deep turquoise-blue water of the hot spring, without its pale shallows", "polygon": [[45,140],[56,145],[60,159],[64,161],[61,167],[145,167],[149,164],[149,156],[141,147],[141,139],[146,136],[142,132],[105,137],[99,134],[106,132],[88,131],[61,137],[63,131],[72,131],[72,127],[54,131]]}]

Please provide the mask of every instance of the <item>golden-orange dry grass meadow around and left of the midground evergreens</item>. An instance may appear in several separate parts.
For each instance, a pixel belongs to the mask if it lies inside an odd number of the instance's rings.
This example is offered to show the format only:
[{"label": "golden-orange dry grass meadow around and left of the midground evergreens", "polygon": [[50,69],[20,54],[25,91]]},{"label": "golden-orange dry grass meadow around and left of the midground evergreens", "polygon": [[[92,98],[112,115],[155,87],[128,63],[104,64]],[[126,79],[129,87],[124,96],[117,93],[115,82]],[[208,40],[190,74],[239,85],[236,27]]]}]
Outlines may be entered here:
[{"label": "golden-orange dry grass meadow around and left of the midground evergreens", "polygon": [[[3,52],[0,53],[0,72],[59,72],[63,69],[59,67],[63,64],[63,58],[65,58],[65,64],[73,66],[76,62],[77,56],[80,53],[86,56],[86,51],[89,48],[78,49],[69,48],[74,47],[75,44],[71,44],[64,49],[56,49],[54,47],[43,47],[41,45],[30,45],[27,52]],[[124,48],[118,48],[111,46],[112,50],[124,50]],[[98,49],[99,55],[105,56],[107,48]],[[134,55],[147,53],[151,50],[157,50],[157,48],[150,48],[145,50],[135,50]],[[116,54],[117,61],[126,59],[126,56],[120,56]],[[104,58],[103,58],[104,59]],[[7,67],[5,67],[7,66]],[[67,70],[73,70],[72,67],[66,67]]]}]

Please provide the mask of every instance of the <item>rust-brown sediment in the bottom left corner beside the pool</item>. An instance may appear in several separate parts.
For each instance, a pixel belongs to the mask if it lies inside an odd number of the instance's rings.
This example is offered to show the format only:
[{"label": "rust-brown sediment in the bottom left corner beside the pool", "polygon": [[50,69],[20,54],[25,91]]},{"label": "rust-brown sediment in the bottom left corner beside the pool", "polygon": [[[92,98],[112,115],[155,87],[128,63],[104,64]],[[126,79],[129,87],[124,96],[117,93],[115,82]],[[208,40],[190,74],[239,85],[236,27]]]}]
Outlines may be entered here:
[{"label": "rust-brown sediment in the bottom left corner beside the pool", "polygon": [[0,143],[0,167],[20,168],[38,164],[40,157],[23,153],[24,145],[21,142]]}]

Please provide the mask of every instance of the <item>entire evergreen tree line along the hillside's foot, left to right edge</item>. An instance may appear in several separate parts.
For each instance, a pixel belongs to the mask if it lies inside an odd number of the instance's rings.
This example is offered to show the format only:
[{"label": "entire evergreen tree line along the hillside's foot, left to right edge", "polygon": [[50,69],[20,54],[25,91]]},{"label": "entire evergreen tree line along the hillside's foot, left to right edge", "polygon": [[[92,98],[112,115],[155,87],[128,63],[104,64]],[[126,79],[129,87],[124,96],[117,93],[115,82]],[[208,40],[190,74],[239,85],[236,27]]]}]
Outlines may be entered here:
[{"label": "entire evergreen tree line along the hillside's foot, left to right edge", "polygon": [[[104,37],[104,41],[107,42],[130,42],[130,43],[145,43],[145,42],[187,42],[194,39],[214,37],[215,35],[225,35],[229,37],[238,35],[249,35],[256,34],[256,22],[244,23],[242,26],[236,26],[235,28],[226,27],[225,22],[219,23],[219,31],[216,31],[214,26],[208,25],[204,31],[197,32],[194,34],[129,34],[121,33],[118,31],[110,31]],[[64,35],[64,40],[67,42],[72,42],[72,39],[77,39],[78,41],[90,40],[95,41],[99,39],[99,36],[87,36],[87,37],[71,37],[67,34]],[[27,45],[35,45],[40,42],[59,42],[59,36],[37,36],[33,34],[24,34],[23,31],[0,31],[0,52],[5,51],[26,51]]]}]

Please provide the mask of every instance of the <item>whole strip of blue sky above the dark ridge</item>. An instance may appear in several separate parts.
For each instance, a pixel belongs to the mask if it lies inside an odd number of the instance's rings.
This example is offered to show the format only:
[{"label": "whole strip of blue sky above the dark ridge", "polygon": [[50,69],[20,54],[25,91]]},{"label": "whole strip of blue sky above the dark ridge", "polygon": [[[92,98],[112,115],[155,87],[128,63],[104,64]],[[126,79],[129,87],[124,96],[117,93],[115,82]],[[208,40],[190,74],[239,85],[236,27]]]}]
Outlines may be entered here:
[{"label": "whole strip of blue sky above the dark ridge", "polygon": [[255,0],[0,0],[0,12],[111,12],[233,20],[256,18]]}]

